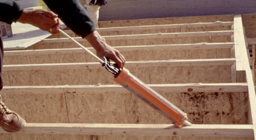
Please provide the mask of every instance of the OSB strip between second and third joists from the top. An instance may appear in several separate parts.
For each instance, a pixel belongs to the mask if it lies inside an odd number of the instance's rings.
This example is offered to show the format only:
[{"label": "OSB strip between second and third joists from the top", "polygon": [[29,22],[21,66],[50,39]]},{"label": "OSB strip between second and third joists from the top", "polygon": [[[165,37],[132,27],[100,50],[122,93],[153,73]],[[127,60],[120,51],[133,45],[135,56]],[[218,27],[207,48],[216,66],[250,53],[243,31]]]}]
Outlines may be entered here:
[{"label": "OSB strip between second and third joists from the top", "polygon": [[[129,40],[106,40],[110,46],[135,46],[135,45],[159,45],[159,44],[190,44],[190,43],[224,43],[230,42],[230,36],[206,36],[206,37],[177,37],[177,38],[158,38],[158,39],[129,39]],[[84,47],[91,47],[87,41],[79,42]],[[25,50],[30,49],[54,49],[54,48],[77,48],[74,42],[60,43],[36,43]]]}]

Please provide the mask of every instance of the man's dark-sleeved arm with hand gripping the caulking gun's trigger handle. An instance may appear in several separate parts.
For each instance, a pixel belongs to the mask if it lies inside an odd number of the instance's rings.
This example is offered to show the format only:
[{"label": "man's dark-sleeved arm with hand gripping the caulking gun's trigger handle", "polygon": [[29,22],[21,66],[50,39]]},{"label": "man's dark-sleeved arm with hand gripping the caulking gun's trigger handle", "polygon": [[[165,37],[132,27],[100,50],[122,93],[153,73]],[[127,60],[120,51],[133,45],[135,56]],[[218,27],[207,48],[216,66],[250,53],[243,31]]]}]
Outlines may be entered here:
[{"label": "man's dark-sleeved arm with hand gripping the caulking gun's trigger handle", "polygon": [[74,33],[90,42],[99,58],[108,57],[120,68],[124,66],[125,59],[122,54],[106,44],[105,39],[98,34],[92,19],[78,0],[44,0],[44,2]]}]

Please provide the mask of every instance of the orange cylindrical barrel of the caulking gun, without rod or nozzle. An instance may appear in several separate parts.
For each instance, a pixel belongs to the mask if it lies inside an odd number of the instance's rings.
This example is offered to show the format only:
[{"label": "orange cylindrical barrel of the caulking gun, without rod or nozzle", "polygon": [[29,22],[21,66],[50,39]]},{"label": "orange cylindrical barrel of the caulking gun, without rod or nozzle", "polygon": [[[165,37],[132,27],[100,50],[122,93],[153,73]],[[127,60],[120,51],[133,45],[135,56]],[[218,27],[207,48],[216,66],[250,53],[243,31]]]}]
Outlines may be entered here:
[{"label": "orange cylindrical barrel of the caulking gun, without rod or nozzle", "polygon": [[179,127],[187,120],[186,113],[146,86],[145,83],[132,75],[126,68],[121,70],[114,81],[150,105],[175,126]]}]

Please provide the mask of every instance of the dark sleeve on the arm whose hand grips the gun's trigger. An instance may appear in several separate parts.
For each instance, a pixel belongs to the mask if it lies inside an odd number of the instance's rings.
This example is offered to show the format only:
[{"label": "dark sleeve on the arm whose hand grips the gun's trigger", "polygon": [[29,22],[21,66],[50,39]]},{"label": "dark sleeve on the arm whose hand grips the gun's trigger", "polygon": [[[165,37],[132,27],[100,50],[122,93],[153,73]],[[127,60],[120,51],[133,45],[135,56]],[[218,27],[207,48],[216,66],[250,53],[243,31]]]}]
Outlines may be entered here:
[{"label": "dark sleeve on the arm whose hand grips the gun's trigger", "polygon": [[84,38],[96,30],[93,20],[78,0],[44,0],[44,2],[78,36]]}]

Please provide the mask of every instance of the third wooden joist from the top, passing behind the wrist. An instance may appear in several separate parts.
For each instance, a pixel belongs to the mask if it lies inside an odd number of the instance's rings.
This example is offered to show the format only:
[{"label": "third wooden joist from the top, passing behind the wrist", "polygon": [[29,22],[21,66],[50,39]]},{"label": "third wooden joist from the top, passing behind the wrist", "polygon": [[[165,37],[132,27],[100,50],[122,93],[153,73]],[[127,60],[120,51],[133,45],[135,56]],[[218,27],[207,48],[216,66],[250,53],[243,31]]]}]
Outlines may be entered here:
[{"label": "third wooden joist from the top, passing behind the wrist", "polygon": [[[140,51],[140,50],[175,50],[175,49],[214,49],[232,48],[233,42],[226,43],[195,43],[195,44],[166,44],[166,45],[140,45],[140,46],[118,46],[113,47],[119,51]],[[87,48],[93,53],[95,49]],[[5,56],[14,55],[40,55],[40,54],[62,54],[62,53],[83,53],[82,48],[65,49],[39,49],[39,50],[12,50],[5,51]]]}]

